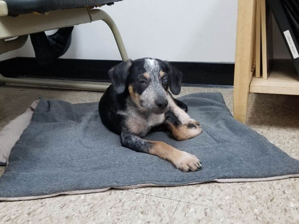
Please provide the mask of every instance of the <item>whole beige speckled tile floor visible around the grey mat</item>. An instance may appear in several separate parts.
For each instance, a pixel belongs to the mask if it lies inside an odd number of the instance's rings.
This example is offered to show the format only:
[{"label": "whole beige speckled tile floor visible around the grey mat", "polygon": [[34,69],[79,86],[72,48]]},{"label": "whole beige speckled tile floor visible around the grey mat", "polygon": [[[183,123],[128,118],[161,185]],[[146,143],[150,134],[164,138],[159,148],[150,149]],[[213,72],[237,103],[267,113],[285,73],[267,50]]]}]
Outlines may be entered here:
[{"label": "whole beige speckled tile floor visible around the grey mat", "polygon": [[[181,95],[220,92],[232,111],[233,90],[183,87]],[[37,97],[95,102],[101,93],[0,87],[0,128]],[[299,159],[299,96],[251,94],[248,125]],[[4,167],[0,167],[0,175]],[[299,178],[252,183],[109,190],[0,202],[0,223],[299,223]]]}]

